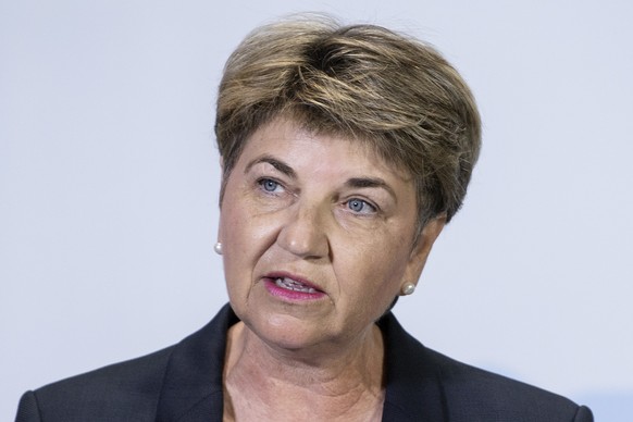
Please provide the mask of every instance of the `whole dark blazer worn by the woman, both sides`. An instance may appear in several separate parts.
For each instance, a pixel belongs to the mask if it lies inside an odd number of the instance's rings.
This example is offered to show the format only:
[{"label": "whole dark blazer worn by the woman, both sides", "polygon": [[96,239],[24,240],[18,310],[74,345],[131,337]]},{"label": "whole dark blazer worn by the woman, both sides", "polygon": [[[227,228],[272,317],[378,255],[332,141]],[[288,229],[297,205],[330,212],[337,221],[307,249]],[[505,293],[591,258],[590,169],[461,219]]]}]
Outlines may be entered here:
[{"label": "whole dark blazer worn by the woman, both sides", "polygon": [[[222,421],[227,305],[199,332],[142,358],[27,392],[16,422]],[[388,313],[383,421],[591,422],[586,407],[422,346]]]}]

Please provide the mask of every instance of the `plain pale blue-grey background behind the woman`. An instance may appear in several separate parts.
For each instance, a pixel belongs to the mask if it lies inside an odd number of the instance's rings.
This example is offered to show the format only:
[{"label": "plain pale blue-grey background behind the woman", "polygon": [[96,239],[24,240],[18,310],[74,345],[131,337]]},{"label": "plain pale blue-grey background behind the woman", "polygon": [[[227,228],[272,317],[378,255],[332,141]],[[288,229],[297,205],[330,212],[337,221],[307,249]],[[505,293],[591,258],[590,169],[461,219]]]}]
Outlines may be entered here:
[{"label": "plain pale blue-grey background behind the woman", "polygon": [[469,197],[404,325],[630,420],[632,4],[0,0],[0,420],[225,302],[215,89],[251,28],[299,11],[431,41],[481,107]]}]

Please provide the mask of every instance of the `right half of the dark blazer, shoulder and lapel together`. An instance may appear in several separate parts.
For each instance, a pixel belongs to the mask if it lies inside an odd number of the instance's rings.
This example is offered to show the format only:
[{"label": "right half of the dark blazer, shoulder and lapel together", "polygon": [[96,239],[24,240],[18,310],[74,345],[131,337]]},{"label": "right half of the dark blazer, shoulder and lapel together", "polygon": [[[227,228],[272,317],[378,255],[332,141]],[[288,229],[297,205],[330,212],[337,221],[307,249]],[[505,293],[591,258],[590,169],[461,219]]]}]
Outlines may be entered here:
[{"label": "right half of the dark blazer, shoulder and lapel together", "polygon": [[387,399],[410,420],[431,410],[436,420],[456,422],[593,421],[587,408],[562,396],[424,347],[390,313],[378,325],[386,338]]}]

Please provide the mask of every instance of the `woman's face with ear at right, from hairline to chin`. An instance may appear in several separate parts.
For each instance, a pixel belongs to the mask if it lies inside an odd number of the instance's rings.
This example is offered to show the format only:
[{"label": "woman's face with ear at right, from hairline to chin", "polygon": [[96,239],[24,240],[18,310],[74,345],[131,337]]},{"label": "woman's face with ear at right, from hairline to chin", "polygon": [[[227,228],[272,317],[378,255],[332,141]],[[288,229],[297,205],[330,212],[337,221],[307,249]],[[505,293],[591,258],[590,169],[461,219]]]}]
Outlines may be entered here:
[{"label": "woman's face with ear at right, from hairline to chin", "polygon": [[269,345],[339,347],[417,283],[435,220],[412,248],[412,179],[358,141],[277,120],[226,182],[220,241],[231,303]]}]

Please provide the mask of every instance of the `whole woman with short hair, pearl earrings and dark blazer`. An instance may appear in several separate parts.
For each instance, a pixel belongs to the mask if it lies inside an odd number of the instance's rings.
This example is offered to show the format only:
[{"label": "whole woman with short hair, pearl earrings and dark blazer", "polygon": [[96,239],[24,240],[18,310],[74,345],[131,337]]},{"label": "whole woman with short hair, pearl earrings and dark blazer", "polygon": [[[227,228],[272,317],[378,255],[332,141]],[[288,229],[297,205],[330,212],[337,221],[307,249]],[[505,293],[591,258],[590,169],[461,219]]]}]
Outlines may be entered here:
[{"label": "whole woman with short hair, pearl earrings and dark blazer", "polygon": [[591,421],[424,348],[389,312],[461,206],[480,117],[430,47],[326,18],[228,59],[215,132],[227,305],[144,358],[24,395],[17,421]]}]

